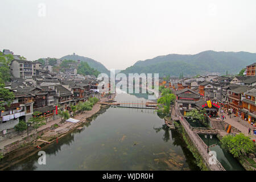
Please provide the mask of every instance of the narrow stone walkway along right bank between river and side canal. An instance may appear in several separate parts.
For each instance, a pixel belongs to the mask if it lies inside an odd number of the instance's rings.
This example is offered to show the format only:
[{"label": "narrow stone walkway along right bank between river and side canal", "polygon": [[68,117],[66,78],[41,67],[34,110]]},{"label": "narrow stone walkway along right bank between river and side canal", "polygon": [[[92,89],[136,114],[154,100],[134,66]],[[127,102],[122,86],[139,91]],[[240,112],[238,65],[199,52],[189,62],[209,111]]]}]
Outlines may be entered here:
[{"label": "narrow stone walkway along right bank between river and side canal", "polygon": [[[225,168],[221,165],[220,162],[213,156],[210,156],[207,153],[207,144],[204,143],[204,141],[199,137],[197,133],[191,130],[191,125],[189,125],[188,121],[181,115],[180,110],[177,107],[177,104],[175,102],[175,111],[176,111],[176,117],[179,118],[179,121],[181,125],[184,127],[185,131],[187,132],[189,138],[193,142],[193,144],[196,146],[197,150],[199,151],[200,155],[204,159],[204,163],[209,167],[211,171],[226,171]],[[211,164],[211,159],[215,158],[215,164]]]}]

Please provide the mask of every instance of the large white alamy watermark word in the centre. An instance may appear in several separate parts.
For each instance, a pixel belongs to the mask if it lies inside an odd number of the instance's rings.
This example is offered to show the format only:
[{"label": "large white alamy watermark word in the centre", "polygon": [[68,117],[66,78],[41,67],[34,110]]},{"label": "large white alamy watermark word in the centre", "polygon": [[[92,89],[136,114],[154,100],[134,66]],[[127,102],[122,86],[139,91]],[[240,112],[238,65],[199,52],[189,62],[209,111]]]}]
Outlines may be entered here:
[{"label": "large white alamy watermark word in the centre", "polygon": [[[115,93],[116,90],[122,92],[133,93],[148,93],[148,100],[155,100],[159,96],[159,73],[129,73],[128,77],[124,73],[115,75],[115,70],[110,70],[110,78],[106,73],[98,75],[98,92],[100,93]],[[154,94],[154,96],[152,95]]]}]

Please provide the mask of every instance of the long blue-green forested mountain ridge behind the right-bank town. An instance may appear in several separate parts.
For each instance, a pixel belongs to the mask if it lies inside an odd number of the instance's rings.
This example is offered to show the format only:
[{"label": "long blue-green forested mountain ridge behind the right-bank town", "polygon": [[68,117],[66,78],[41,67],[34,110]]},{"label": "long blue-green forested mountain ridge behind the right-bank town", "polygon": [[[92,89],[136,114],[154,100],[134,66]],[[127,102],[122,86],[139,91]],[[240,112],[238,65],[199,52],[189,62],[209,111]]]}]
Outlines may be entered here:
[{"label": "long blue-green forested mountain ridge behind the right-bank town", "polygon": [[216,73],[237,74],[246,65],[256,62],[256,53],[203,51],[195,55],[170,54],[137,61],[122,73],[159,73],[163,76],[195,76]]}]

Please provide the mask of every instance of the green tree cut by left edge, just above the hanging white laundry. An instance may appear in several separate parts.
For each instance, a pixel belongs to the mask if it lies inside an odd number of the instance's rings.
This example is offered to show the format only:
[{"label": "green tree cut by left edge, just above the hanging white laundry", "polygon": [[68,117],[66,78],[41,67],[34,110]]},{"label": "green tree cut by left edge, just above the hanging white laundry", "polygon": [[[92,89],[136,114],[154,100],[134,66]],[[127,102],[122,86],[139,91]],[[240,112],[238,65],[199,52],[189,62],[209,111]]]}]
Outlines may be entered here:
[{"label": "green tree cut by left edge, just above the hanging white laundry", "polygon": [[5,84],[0,84],[0,110],[5,110],[5,105],[10,106],[14,98],[14,93],[6,89]]}]

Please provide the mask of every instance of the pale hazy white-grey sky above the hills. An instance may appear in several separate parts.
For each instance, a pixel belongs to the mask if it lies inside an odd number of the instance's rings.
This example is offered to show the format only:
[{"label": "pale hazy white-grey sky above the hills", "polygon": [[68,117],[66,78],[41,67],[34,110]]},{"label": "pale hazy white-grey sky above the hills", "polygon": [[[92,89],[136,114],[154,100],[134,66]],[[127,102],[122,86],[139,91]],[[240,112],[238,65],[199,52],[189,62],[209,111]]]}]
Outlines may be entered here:
[{"label": "pale hazy white-grey sky above the hills", "polygon": [[75,52],[125,69],[169,53],[256,52],[255,0],[1,0],[0,22],[1,51],[28,60]]}]

